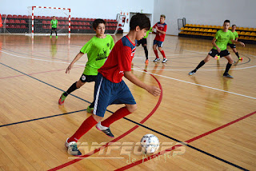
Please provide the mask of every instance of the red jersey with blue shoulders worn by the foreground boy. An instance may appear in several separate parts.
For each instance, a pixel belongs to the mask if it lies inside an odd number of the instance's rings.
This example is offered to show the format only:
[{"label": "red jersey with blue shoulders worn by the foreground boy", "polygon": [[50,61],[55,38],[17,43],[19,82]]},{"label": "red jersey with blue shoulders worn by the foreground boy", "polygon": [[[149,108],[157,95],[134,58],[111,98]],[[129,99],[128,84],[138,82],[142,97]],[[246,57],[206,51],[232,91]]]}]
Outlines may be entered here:
[{"label": "red jersey with blue shoulders worn by the foreground boy", "polygon": [[128,36],[122,37],[114,45],[105,64],[98,69],[98,72],[110,82],[122,82],[124,72],[131,70],[131,62],[134,58],[136,44],[132,43]]}]

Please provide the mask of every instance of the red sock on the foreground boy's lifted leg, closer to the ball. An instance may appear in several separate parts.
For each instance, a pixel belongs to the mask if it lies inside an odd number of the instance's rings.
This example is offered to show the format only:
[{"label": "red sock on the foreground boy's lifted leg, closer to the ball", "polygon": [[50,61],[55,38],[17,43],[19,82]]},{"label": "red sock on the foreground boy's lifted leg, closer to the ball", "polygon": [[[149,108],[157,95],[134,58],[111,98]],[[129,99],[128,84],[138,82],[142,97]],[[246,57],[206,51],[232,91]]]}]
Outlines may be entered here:
[{"label": "red sock on the foreground boy's lifted leg, closer to the ball", "polygon": [[118,109],[115,113],[113,113],[110,117],[107,117],[106,120],[102,121],[102,126],[110,127],[110,125],[114,121],[118,121],[122,117],[127,116],[130,114],[130,111],[126,107],[122,107]]}]

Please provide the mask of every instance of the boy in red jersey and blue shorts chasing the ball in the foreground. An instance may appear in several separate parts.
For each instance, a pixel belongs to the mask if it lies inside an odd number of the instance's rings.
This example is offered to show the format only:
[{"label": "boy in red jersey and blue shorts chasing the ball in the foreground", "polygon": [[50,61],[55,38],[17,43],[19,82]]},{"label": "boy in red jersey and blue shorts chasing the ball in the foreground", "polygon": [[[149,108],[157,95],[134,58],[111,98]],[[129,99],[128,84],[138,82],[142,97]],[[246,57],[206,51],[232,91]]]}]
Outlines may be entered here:
[{"label": "boy in red jersey and blue shorts chasing the ball in the foreground", "polygon": [[[145,14],[136,14],[130,19],[130,32],[115,44],[105,64],[98,70],[94,87],[93,114],[83,121],[72,137],[66,140],[65,145],[69,154],[82,154],[77,148],[77,141],[96,124],[97,129],[109,137],[114,137],[110,131],[110,125],[137,109],[134,97],[122,77],[142,89],[146,89],[154,96],[161,93],[158,87],[146,85],[131,72],[131,62],[134,58],[137,41],[146,36],[147,30],[150,30],[150,19]],[[102,121],[106,107],[112,104],[124,104],[125,106]]]}]

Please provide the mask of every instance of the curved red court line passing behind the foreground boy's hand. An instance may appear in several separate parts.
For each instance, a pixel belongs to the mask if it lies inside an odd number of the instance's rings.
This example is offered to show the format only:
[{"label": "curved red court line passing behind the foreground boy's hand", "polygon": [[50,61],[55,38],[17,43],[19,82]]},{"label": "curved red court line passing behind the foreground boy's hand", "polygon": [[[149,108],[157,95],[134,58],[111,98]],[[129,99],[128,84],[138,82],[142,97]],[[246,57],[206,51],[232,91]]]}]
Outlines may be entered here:
[{"label": "curved red court line passing behind the foreground boy's hand", "polygon": [[[161,94],[160,97],[158,99],[158,103],[154,106],[154,109],[139,123],[144,123],[146,120],[148,120],[153,114],[154,112],[158,109],[161,101],[162,101],[162,85],[160,84],[160,82],[158,81],[157,78],[154,77],[154,75],[150,74],[157,82],[158,82],[158,86],[161,89]],[[90,157],[91,155],[93,155],[94,153],[97,153],[98,151],[100,151],[101,149],[105,149],[107,146],[111,145],[113,142],[120,140],[122,137],[126,137],[126,135],[128,135],[129,133],[133,132],[135,129],[138,129],[138,125],[135,125],[133,128],[131,128],[130,130],[126,131],[126,133],[122,133],[122,135],[120,135],[119,137],[115,138],[114,140],[106,143],[106,145],[102,145],[101,147],[99,147],[98,149],[94,149],[94,151],[91,151],[90,153],[86,153],[85,155],[78,157],[77,159],[74,159],[73,161],[69,161],[66,162],[62,165],[58,165],[57,167],[53,168],[53,169],[49,169],[49,171],[54,171],[54,170],[58,170],[58,169],[62,169],[65,168],[69,165],[72,165],[78,161],[82,161],[82,159],[86,158],[86,157]]]}]

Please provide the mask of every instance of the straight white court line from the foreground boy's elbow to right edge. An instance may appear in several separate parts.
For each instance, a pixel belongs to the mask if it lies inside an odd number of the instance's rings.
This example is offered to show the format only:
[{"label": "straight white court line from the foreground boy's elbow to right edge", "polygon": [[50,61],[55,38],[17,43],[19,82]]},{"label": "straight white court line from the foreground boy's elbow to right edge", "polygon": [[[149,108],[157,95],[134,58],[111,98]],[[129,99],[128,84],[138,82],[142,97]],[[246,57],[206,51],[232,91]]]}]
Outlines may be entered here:
[{"label": "straight white court line from the foreground boy's elbow to right edge", "polygon": [[[136,69],[134,69],[136,70]],[[146,72],[144,70],[137,70],[138,72],[142,72],[142,73],[148,73],[148,74],[152,74],[152,75],[157,75],[159,77],[162,77],[162,78],[168,78],[168,79],[171,79],[171,80],[175,80],[175,81],[178,81],[178,82],[186,82],[186,81],[183,81],[183,80],[179,80],[179,79],[176,79],[176,78],[169,78],[169,77],[166,77],[164,75],[159,75],[159,74],[153,74],[153,73],[150,73],[150,72]],[[198,86],[202,86],[202,87],[206,87],[208,89],[215,89],[215,90],[218,90],[218,91],[222,91],[222,92],[225,92],[225,93],[232,93],[232,94],[235,94],[235,95],[238,95],[238,96],[242,96],[242,97],[248,97],[248,98],[252,98],[254,100],[256,100],[256,97],[250,97],[250,96],[246,96],[246,95],[243,95],[241,93],[233,93],[233,92],[230,92],[230,91],[226,91],[226,90],[223,90],[223,89],[216,89],[214,87],[210,87],[210,86],[206,86],[206,85],[199,85],[199,84],[196,84],[194,82],[186,82],[188,84],[191,84],[191,85],[198,85]]]}]

